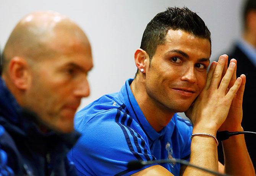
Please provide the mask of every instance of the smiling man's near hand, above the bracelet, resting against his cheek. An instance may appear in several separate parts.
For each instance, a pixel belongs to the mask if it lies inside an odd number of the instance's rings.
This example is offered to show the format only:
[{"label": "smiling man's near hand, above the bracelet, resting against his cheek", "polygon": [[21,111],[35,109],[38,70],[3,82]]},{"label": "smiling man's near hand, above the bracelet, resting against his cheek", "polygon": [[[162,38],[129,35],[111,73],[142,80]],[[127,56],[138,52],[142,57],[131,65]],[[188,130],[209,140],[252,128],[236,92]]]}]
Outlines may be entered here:
[{"label": "smiling man's near hand, above the bracelet, resting against his cheek", "polygon": [[243,93],[243,89],[239,89],[243,76],[233,80],[233,75],[236,74],[236,62],[234,59],[225,69],[227,59],[227,55],[221,55],[218,62],[211,64],[206,85],[194,105],[188,110],[189,118],[194,125],[193,131],[215,135],[225,121],[237,91]]}]

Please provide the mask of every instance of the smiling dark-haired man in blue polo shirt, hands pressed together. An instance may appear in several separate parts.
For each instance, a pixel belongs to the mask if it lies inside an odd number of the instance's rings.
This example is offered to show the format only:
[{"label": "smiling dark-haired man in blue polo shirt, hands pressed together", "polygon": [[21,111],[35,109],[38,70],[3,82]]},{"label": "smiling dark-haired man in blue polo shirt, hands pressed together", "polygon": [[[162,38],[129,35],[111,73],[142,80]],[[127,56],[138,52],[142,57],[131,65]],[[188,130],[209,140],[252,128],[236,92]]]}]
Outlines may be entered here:
[{"label": "smiling dark-haired man in blue polo shirt, hands pressed together", "polygon": [[[196,13],[167,8],[157,14],[135,51],[135,78],[76,114],[82,136],[68,157],[79,175],[207,175],[179,163],[126,167],[131,160],[168,158],[190,158],[218,171],[216,132],[242,130],[245,75],[236,79],[236,60],[227,68],[227,55],[222,55],[207,76],[210,55],[210,32]],[[185,111],[193,129],[176,114]],[[243,136],[227,140],[224,149],[227,173],[255,175]],[[237,159],[243,160],[240,166]]]}]

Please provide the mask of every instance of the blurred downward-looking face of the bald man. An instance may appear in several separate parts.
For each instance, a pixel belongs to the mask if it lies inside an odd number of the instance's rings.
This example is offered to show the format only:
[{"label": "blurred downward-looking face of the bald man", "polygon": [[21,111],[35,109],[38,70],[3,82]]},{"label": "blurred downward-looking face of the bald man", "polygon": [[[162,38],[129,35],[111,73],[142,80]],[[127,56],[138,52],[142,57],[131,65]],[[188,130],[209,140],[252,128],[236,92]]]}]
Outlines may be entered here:
[{"label": "blurred downward-looking face of the bald man", "polygon": [[80,41],[50,47],[56,54],[32,66],[26,105],[50,128],[68,133],[73,130],[81,98],[90,92],[87,72],[92,68],[91,47]]}]

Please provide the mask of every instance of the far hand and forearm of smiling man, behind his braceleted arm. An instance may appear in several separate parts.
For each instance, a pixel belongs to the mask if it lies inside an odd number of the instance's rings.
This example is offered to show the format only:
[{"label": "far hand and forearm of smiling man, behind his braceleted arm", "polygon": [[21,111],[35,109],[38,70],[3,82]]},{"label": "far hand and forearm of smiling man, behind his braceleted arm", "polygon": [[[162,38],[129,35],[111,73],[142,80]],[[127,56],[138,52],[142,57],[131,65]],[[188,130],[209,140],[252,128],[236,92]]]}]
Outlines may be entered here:
[{"label": "far hand and forearm of smiling man, behind his braceleted arm", "polygon": [[[237,63],[235,59],[231,59],[230,63]],[[227,71],[227,62],[224,66],[223,74]],[[241,121],[243,117],[242,102],[243,102],[243,92],[245,90],[245,75],[241,75],[242,79],[241,86],[235,94],[230,109],[228,111],[227,118],[224,123],[220,126],[219,130],[228,130],[230,132],[243,131],[241,127]],[[233,72],[232,78],[228,85],[226,92],[232,89],[232,86],[236,84],[236,67]],[[224,150],[225,159],[225,173],[234,176],[246,175],[255,176],[255,171],[253,164],[251,162],[250,156],[248,154],[245,138],[243,135],[232,136],[228,140],[222,141],[222,147]],[[240,152],[238,152],[240,151]],[[237,161],[243,161],[240,165],[237,165]]]}]

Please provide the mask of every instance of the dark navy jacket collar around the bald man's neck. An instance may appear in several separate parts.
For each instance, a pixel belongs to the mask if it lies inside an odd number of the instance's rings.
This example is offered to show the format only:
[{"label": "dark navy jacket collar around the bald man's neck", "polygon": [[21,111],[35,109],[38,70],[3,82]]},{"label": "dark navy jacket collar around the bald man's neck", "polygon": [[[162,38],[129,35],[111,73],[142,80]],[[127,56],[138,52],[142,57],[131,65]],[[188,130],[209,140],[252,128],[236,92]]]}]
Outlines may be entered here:
[{"label": "dark navy jacket collar around the bald man's neck", "polygon": [[68,151],[78,140],[80,134],[76,131],[68,134],[54,130],[42,133],[31,120],[36,118],[36,114],[18,105],[2,78],[0,97],[0,124],[11,136],[27,141],[31,148],[38,152],[45,153],[51,148],[56,148],[56,145],[62,145],[63,150]]}]

